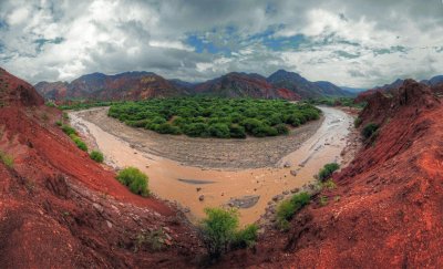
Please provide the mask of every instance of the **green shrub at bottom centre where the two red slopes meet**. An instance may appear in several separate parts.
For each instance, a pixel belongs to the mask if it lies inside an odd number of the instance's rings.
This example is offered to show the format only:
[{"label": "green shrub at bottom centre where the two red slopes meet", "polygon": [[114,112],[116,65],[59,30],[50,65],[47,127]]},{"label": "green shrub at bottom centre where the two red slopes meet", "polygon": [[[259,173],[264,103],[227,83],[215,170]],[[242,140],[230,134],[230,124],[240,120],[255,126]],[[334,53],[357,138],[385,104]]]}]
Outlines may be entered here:
[{"label": "green shrub at bottom centre where the two red slopes meet", "polygon": [[206,208],[200,231],[209,257],[219,258],[236,236],[238,213],[235,209]]}]

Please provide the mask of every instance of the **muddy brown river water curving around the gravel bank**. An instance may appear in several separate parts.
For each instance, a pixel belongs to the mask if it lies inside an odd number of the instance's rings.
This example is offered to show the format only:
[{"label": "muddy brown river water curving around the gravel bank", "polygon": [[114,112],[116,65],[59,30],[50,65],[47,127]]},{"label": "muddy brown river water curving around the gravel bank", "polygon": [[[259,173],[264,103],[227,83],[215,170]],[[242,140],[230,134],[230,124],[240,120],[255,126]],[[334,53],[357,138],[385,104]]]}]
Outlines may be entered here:
[{"label": "muddy brown river water curving around the gravel bank", "polygon": [[[114,167],[135,166],[146,173],[151,190],[163,199],[177,201],[188,208],[187,217],[192,221],[204,217],[206,207],[225,206],[229,200],[245,196],[259,196],[254,206],[239,209],[240,223],[244,225],[258,220],[274,196],[312,182],[324,164],[341,162],[340,153],[346,147],[352,117],[337,108],[320,108],[324,120],[296,151],[282,156],[270,167],[235,170],[187,166],[154,155],[152,151],[144,151],[144,147],[128,143],[131,137],[123,137],[125,130],[127,133],[133,130],[123,123],[110,118],[114,121],[112,124],[119,124],[119,133],[111,134],[104,131],[107,120],[92,123],[86,120],[87,111],[69,114],[72,125],[95,141],[107,164]],[[106,113],[105,108],[93,110]],[[122,137],[119,137],[119,134],[122,134]],[[153,141],[146,143],[155,145]],[[297,175],[291,175],[290,170],[296,170]]]}]

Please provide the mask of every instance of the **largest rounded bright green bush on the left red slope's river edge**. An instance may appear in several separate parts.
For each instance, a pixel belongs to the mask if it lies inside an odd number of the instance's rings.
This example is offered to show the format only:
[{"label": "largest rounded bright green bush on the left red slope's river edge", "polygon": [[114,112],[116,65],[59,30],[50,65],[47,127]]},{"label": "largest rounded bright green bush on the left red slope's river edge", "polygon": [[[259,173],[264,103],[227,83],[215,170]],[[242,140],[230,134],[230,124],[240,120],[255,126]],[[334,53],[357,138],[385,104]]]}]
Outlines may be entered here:
[{"label": "largest rounded bright green bush on the left red slope's river edge", "polygon": [[148,196],[150,189],[147,187],[148,178],[140,169],[135,167],[126,167],[119,172],[117,180],[123,185],[130,187],[130,190],[141,196]]}]

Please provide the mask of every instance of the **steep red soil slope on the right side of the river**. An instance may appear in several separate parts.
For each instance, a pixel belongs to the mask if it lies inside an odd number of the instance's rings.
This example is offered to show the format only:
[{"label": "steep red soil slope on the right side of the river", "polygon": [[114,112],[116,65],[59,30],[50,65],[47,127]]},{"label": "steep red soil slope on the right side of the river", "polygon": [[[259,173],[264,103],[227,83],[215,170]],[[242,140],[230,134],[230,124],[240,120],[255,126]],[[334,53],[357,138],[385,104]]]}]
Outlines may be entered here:
[{"label": "steep red soil slope on the right side of the river", "polygon": [[361,113],[379,136],[334,175],[292,220],[289,234],[267,232],[256,254],[225,261],[265,268],[442,268],[443,105],[405,81],[392,97],[375,93]]}]

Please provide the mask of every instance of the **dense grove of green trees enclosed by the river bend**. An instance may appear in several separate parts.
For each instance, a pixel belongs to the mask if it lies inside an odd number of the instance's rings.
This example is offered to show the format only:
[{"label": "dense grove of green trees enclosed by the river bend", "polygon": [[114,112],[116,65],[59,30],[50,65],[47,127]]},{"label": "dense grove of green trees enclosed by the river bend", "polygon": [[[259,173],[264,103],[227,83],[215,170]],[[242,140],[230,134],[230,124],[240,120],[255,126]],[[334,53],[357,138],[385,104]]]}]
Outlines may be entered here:
[{"label": "dense grove of green trees enclosed by the river bend", "polygon": [[109,115],[133,127],[192,137],[265,137],[318,120],[310,104],[282,100],[175,97],[114,103]]}]

